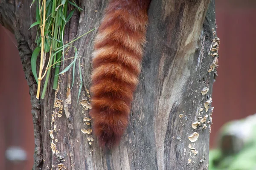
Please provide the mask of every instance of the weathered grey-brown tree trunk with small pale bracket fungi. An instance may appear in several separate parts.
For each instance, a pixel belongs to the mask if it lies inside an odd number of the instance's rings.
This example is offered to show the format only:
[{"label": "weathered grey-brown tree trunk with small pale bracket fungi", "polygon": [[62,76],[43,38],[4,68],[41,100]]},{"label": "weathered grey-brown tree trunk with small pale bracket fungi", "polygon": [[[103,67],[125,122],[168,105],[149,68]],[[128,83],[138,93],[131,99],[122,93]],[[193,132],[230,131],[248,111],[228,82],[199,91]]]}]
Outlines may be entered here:
[{"label": "weathered grey-brown tree trunk with small pale bracket fungi", "polygon": [[[151,1],[147,44],[130,124],[119,146],[107,153],[98,147],[96,139],[90,138],[91,134],[81,132],[93,123],[83,119],[89,117],[86,102],[90,99],[90,60],[96,31],[74,44],[83,56],[83,88],[78,104],[79,67],[71,91],[71,71],[60,75],[57,91],[51,88],[51,74],[47,96],[38,100],[30,61],[37,31],[28,31],[35,22],[35,6],[29,8],[31,2],[1,0],[0,23],[15,34],[30,88],[35,133],[33,170],[207,169],[211,94],[219,42],[214,0]],[[74,13],[66,26],[64,42],[98,28],[108,0],[77,3],[84,11]],[[73,55],[74,51],[70,51],[67,57]],[[69,63],[65,62],[65,66]]]}]

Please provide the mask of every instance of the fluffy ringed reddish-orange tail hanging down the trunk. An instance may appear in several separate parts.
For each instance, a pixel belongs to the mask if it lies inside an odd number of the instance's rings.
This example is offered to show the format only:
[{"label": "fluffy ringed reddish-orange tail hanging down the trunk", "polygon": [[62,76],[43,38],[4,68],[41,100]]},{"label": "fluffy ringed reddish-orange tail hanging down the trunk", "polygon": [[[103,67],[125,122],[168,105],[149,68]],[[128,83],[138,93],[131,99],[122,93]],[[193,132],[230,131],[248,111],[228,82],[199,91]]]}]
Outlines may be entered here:
[{"label": "fluffy ringed reddish-orange tail hanging down the trunk", "polygon": [[102,147],[118,144],[138,84],[150,0],[110,0],[93,52],[90,116]]}]

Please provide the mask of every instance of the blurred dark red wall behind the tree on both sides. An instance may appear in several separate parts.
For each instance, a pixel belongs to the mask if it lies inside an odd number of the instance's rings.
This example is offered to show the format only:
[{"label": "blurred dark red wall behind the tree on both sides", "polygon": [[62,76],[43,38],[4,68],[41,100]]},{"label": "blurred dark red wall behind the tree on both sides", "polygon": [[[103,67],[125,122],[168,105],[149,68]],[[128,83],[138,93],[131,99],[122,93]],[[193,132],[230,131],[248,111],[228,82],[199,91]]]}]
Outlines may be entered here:
[{"label": "blurred dark red wall behind the tree on both sides", "polygon": [[[256,1],[215,0],[215,4],[221,41],[220,66],[212,94],[215,109],[211,149],[218,147],[218,132],[224,123],[256,113]],[[32,169],[34,133],[29,87],[17,42],[1,25],[0,80],[0,170]],[[20,157],[15,158],[17,154],[13,153],[17,152]]]}]

